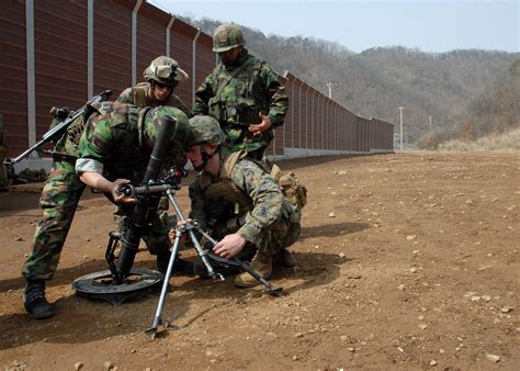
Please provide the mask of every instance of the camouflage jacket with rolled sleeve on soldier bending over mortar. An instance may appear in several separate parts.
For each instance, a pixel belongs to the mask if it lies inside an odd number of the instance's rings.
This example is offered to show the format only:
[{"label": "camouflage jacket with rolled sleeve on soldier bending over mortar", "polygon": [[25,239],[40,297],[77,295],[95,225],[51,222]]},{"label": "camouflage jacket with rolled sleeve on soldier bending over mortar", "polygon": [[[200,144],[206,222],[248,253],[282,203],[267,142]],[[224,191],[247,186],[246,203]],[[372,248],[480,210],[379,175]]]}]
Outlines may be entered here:
[{"label": "camouflage jacket with rolled sleeve on soldier bending over mortar", "polygon": [[[143,109],[118,102],[103,102],[97,109],[99,114],[87,121],[79,142],[77,172],[100,172],[111,181],[142,181],[151,153],[151,148],[143,145],[146,138],[140,137]],[[169,146],[170,158],[179,155],[177,147]]]}]

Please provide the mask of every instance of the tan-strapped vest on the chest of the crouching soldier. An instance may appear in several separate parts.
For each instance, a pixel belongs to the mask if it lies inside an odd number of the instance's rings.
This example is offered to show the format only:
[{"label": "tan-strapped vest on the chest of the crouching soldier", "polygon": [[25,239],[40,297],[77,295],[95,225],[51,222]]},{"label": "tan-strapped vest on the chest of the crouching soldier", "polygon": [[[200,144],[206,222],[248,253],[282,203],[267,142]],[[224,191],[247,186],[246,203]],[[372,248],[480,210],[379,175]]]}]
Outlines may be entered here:
[{"label": "tan-strapped vest on the chest of the crouching soldier", "polygon": [[215,212],[214,217],[210,217],[210,224],[216,231],[222,228],[230,233],[238,231],[245,223],[247,213],[252,210],[251,198],[230,179],[233,168],[246,155],[247,153],[241,150],[227,156],[222,165],[218,182],[213,182],[206,172],[203,172],[199,180],[206,213],[212,215],[212,212]]}]

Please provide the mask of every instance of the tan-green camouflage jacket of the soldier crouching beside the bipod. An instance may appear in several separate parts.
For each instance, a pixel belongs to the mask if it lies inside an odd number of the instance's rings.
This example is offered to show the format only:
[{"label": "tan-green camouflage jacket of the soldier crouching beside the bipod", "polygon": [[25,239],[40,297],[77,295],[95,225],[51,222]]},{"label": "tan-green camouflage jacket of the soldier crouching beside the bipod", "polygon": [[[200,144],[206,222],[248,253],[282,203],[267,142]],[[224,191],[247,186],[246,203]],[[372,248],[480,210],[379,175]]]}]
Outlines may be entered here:
[{"label": "tan-green camouflage jacket of the soldier crouching beside the bipod", "polygon": [[[223,169],[225,160],[222,164],[221,168]],[[226,181],[230,182],[229,191],[226,191],[226,187],[222,189],[222,194],[213,193],[213,196],[208,195],[210,187]],[[223,170],[216,179],[202,171],[190,186],[189,193],[191,199],[190,217],[196,218],[204,229],[210,228],[211,233],[218,239],[228,233],[237,233],[257,246],[267,227],[276,223],[280,217],[289,218],[294,211],[294,207],[284,200],[283,193],[274,179],[248,158],[240,158],[233,166],[229,178]],[[238,223],[238,231],[226,229],[226,221],[224,221],[224,224],[217,223],[214,225],[212,223],[208,215],[211,203],[219,202],[222,199],[229,201],[231,204],[241,203],[240,209],[246,207],[247,213],[244,214],[242,222]],[[239,211],[237,216],[241,214],[241,211]]]}]

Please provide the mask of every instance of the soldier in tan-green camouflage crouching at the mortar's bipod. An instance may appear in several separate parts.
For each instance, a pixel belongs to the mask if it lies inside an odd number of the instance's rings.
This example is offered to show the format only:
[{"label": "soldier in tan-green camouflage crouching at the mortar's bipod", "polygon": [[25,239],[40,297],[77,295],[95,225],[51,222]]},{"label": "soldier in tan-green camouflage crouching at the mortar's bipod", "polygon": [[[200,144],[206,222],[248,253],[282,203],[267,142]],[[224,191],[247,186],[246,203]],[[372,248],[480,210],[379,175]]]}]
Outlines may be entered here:
[{"label": "soldier in tan-green camouflage crouching at the mortar's bipod", "polygon": [[[273,256],[299,237],[301,212],[286,201],[282,190],[260,162],[240,150],[224,155],[221,145],[225,135],[211,116],[190,119],[191,147],[186,157],[201,171],[190,186],[190,218],[219,243],[213,251],[221,257],[252,257],[251,266],[264,278],[271,276]],[[283,260],[282,260],[283,261]],[[217,271],[230,273],[222,267]],[[207,277],[200,258],[195,273]],[[258,284],[249,273],[235,278],[235,284],[249,288]]]}]

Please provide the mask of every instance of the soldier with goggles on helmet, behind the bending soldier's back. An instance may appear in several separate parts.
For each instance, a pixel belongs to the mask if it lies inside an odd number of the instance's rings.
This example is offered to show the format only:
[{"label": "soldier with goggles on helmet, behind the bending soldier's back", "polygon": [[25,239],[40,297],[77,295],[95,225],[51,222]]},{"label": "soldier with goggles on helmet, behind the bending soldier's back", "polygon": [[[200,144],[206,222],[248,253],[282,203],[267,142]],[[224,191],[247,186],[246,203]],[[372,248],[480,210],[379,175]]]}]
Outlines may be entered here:
[{"label": "soldier with goggles on helmet, behind the bending soldier's back", "polygon": [[189,115],[184,103],[173,93],[177,86],[189,76],[174,59],[166,56],[155,58],[144,70],[143,77],[146,82],[123,90],[117,102],[137,106],[176,106]]}]

